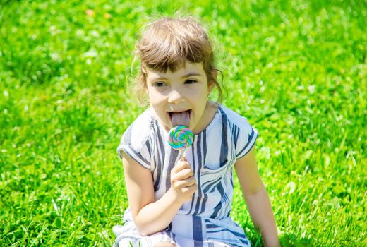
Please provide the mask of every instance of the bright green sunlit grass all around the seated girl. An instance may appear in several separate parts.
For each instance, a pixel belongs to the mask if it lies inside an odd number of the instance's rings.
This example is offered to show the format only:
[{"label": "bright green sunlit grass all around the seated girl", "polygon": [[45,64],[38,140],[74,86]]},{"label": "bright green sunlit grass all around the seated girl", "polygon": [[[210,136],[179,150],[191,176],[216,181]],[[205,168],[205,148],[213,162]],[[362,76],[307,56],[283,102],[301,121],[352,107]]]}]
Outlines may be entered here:
[{"label": "bright green sunlit grass all around the seated girl", "polygon": [[[136,31],[179,9],[207,23],[223,103],[260,133],[283,245],[367,245],[367,1],[242,2],[1,1],[0,246],[112,244],[115,150],[143,112]],[[231,216],[263,244],[237,182]]]}]

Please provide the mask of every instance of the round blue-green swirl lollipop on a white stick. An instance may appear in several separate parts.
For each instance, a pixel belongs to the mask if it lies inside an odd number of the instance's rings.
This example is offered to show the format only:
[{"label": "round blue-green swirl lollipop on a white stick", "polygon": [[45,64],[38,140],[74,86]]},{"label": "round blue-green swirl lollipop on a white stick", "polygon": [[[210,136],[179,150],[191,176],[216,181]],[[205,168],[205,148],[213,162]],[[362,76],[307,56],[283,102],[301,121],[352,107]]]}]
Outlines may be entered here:
[{"label": "round blue-green swirl lollipop on a white stick", "polygon": [[183,151],[193,144],[193,138],[194,135],[190,128],[177,125],[169,131],[168,143],[175,150],[180,150],[181,157],[183,157]]}]

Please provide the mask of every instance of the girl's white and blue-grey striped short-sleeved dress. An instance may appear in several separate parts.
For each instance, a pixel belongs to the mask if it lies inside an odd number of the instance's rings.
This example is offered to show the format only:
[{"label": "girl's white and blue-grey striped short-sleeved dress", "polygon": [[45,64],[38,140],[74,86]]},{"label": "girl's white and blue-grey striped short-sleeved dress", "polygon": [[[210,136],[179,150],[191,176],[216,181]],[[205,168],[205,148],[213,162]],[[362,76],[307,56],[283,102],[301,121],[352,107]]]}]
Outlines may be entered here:
[{"label": "girl's white and blue-grey striped short-sleeved dress", "polygon": [[[117,152],[125,152],[152,172],[155,198],[170,188],[170,171],[179,152],[167,143],[167,131],[147,109],[138,116],[121,138]],[[219,105],[212,122],[195,135],[185,151],[195,174],[198,191],[184,203],[164,231],[140,236],[131,211],[124,213],[124,226],[115,226],[115,246],[152,246],[170,241],[181,247],[250,246],[243,229],[230,217],[233,196],[233,166],[246,155],[258,132],[246,118]]]}]

